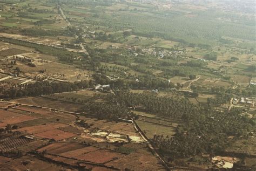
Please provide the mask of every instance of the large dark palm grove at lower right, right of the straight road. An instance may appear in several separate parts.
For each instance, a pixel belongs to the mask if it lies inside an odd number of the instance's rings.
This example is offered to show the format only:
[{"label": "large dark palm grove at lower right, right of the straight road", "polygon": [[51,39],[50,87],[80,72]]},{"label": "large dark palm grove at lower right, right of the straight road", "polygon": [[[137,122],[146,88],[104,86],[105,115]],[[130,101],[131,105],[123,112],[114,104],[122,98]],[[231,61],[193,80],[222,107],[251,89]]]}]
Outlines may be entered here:
[{"label": "large dark palm grove at lower right, right of the straight road", "polygon": [[[154,144],[160,152],[173,157],[193,156],[202,153],[221,155],[233,141],[250,135],[255,122],[241,117],[240,110],[230,113],[214,112],[208,108],[200,108],[193,117],[178,126],[176,135],[154,136]],[[234,139],[228,138],[234,136]]]}]

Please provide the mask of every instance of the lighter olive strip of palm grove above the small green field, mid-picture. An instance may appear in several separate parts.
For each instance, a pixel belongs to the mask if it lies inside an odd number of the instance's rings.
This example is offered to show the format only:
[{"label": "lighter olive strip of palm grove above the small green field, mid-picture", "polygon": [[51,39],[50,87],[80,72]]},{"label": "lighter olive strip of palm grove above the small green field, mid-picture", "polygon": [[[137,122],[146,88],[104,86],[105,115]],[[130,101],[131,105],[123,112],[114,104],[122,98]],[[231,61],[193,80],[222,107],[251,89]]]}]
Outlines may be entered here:
[{"label": "lighter olive strip of palm grove above the small green field, mid-picture", "polygon": [[[116,91],[115,93],[116,95],[106,95],[104,99],[111,99],[111,101],[123,104],[126,107],[136,108],[137,106],[143,106],[146,112],[155,113],[163,117],[188,119],[192,113],[197,113],[198,111],[197,106],[183,98],[162,98],[153,94],[137,94],[124,91]],[[184,114],[186,117],[183,116]]]}]

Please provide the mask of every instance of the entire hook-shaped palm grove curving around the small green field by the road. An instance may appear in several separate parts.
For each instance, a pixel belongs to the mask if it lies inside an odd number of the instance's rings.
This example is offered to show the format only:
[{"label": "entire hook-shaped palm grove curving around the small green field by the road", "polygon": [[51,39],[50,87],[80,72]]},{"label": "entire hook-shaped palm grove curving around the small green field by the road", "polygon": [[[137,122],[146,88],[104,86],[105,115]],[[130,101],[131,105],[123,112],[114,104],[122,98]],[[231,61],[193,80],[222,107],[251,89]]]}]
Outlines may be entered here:
[{"label": "entire hook-shaped palm grove curving around the small green field by the road", "polygon": [[[116,91],[100,97],[104,102],[89,102],[89,113],[99,119],[117,120],[134,117],[128,108],[143,108],[145,112],[180,120],[174,136],[156,135],[152,139],[159,151],[169,156],[193,156],[201,153],[221,154],[235,139],[248,138],[255,126],[252,119],[241,116],[234,108],[230,113],[216,112],[209,106],[197,106],[185,99],[156,97],[152,94],[134,94]],[[234,136],[234,139],[229,139]]]}]

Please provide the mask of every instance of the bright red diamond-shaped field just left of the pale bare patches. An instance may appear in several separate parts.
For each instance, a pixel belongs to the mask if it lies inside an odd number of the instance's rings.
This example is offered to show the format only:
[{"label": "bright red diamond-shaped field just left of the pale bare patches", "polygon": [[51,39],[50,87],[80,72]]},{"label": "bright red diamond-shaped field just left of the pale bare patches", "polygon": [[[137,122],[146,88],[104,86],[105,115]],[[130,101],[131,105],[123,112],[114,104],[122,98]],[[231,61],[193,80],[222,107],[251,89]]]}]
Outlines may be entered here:
[{"label": "bright red diamond-shaped field just left of the pale bare patches", "polygon": [[70,132],[64,132],[59,129],[53,129],[51,131],[45,131],[45,132],[35,134],[35,136],[39,136],[41,138],[55,139],[56,141],[70,138],[75,135],[76,134],[72,134]]}]

